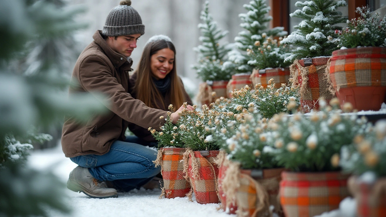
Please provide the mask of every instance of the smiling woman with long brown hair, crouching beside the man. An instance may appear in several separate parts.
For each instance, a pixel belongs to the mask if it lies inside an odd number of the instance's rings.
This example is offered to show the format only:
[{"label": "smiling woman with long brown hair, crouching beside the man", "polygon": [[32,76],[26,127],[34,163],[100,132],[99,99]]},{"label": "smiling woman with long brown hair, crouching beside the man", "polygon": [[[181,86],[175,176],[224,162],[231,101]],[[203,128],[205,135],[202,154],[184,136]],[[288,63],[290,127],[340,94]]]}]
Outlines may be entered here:
[{"label": "smiling woman with long brown hair, crouching beside the man", "polygon": [[[132,97],[141,100],[148,107],[174,111],[184,102],[192,105],[181,78],[176,70],[176,49],[168,36],[153,36],[146,42],[141,60],[130,76]],[[155,146],[156,140],[147,129],[129,123],[129,129],[138,137],[139,144]]]}]

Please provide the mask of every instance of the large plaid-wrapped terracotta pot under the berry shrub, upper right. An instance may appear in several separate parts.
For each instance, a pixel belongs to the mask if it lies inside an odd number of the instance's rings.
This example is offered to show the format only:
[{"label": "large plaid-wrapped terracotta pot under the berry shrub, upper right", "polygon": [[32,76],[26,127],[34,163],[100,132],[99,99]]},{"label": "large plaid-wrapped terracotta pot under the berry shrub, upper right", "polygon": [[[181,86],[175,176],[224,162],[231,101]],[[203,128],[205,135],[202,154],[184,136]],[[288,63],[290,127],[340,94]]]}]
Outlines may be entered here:
[{"label": "large plaid-wrapped terracotta pot under the berry shrub, upper right", "polygon": [[359,47],[332,52],[326,70],[340,105],[379,110],[386,93],[386,48]]}]

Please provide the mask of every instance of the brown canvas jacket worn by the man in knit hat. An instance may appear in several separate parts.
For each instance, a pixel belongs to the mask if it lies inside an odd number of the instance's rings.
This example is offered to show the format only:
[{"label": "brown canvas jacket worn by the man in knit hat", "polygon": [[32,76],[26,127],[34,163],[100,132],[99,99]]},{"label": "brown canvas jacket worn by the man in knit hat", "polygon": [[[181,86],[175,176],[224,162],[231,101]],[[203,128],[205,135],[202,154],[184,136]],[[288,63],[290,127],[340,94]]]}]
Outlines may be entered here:
[{"label": "brown canvas jacket worn by the man in knit hat", "polygon": [[76,61],[71,79],[79,83],[70,88],[73,93],[102,93],[107,97],[107,114],[91,117],[86,124],[73,118],[64,122],[62,149],[66,157],[85,154],[105,154],[116,140],[125,139],[128,122],[141,127],[159,129],[165,123],[159,117],[166,111],[149,108],[129,94],[129,71],[132,60],[113,51],[100,34],[88,45]]}]

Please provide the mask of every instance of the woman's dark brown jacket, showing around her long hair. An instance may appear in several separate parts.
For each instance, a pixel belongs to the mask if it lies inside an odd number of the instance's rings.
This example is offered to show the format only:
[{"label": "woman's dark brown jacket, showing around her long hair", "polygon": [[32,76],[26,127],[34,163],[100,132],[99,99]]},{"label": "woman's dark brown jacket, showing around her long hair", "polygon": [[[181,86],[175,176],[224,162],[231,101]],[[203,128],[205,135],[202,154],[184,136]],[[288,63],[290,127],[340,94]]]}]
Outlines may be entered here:
[{"label": "woman's dark brown jacket, showing around her long hair", "polygon": [[[134,84],[135,84],[136,80],[137,80],[137,74],[134,73],[132,76],[130,76],[130,80],[129,80],[129,86],[130,86],[129,92],[131,93],[131,95],[134,98],[136,98],[136,96],[135,96],[135,93],[132,90],[132,87],[134,87]],[[181,80],[181,83],[182,83],[182,80]],[[186,93],[186,91],[185,91],[185,88],[183,89],[183,91],[184,91],[183,94],[185,96],[186,102],[188,102],[189,105],[193,105],[191,98],[189,97],[188,93]],[[165,107],[162,110],[168,111],[168,107],[171,104],[170,95],[171,95],[171,93],[168,92],[168,93],[166,93],[165,97],[163,97],[161,99],[158,99],[159,101],[156,102],[156,104],[159,107],[163,107],[162,101],[161,101],[161,100],[163,100]],[[141,139],[143,139],[143,140],[145,140],[147,142],[156,142],[156,139],[154,139],[154,137],[151,135],[151,133],[147,130],[147,127],[144,128],[144,127],[141,127],[141,126],[139,126],[137,124],[129,123],[129,130],[131,132],[133,132],[135,134],[135,136],[138,136],[139,138],[141,138]]]}]

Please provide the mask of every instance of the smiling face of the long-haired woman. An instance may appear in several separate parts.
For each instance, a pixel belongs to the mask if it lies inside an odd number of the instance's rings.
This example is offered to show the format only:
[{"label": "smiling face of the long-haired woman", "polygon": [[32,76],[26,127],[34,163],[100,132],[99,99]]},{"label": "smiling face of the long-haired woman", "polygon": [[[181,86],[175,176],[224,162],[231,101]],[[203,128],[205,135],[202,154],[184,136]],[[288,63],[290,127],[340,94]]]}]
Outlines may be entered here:
[{"label": "smiling face of the long-haired woman", "polygon": [[163,79],[174,67],[174,52],[169,48],[164,48],[151,56],[151,73],[157,79]]}]

